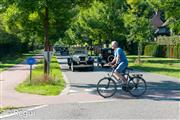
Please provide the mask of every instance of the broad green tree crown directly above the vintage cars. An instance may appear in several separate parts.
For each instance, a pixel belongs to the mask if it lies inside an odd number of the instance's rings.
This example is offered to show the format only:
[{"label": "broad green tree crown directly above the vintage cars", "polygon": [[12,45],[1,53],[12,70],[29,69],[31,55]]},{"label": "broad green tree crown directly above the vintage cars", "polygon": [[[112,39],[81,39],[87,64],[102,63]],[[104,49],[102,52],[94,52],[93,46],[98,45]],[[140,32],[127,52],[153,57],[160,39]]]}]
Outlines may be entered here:
[{"label": "broad green tree crown directly above the vintage cars", "polygon": [[[93,44],[109,44],[111,40],[125,40],[122,13],[124,1],[94,1],[88,9],[81,9],[78,17],[71,24],[67,36],[77,43],[85,43],[83,38],[88,37]],[[90,44],[90,43],[88,43]]]}]

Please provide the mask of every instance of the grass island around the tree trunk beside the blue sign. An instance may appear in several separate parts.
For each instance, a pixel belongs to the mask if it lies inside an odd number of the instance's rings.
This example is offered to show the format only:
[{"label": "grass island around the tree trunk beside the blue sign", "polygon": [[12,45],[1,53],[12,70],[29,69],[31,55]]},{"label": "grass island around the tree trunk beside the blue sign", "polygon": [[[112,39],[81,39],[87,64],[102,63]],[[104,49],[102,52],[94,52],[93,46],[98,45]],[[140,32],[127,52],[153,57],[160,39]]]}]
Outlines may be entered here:
[{"label": "grass island around the tree trunk beside the blue sign", "polygon": [[32,82],[29,78],[16,87],[16,90],[24,93],[40,95],[58,95],[64,89],[64,80],[56,57],[52,58],[49,79],[45,80],[43,75],[43,61],[33,70]]}]

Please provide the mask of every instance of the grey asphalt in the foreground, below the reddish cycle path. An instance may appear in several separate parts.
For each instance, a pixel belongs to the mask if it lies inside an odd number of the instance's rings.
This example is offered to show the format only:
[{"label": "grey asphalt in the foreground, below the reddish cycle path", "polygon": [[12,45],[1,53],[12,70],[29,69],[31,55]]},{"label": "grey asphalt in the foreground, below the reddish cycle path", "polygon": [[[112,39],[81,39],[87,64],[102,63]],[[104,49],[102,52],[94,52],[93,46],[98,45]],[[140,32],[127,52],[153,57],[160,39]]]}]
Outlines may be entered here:
[{"label": "grey asphalt in the foreground, below the reddish cycle path", "polygon": [[[151,100],[112,100],[68,103],[23,112],[8,119],[162,119],[179,120],[178,103]],[[4,120],[4,119],[2,119]]]}]

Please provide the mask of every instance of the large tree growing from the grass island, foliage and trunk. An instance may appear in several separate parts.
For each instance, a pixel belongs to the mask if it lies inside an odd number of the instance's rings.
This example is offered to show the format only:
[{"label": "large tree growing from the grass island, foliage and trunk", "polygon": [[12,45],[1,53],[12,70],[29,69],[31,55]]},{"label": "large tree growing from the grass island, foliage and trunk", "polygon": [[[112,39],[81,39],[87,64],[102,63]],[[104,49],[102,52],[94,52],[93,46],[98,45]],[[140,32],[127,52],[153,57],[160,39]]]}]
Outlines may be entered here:
[{"label": "large tree growing from the grass island, foliage and trunk", "polygon": [[[90,2],[91,0],[84,3],[81,0],[4,0],[6,10],[2,15],[5,18],[3,26],[7,32],[16,34],[20,39],[44,39],[44,50],[49,51],[50,44],[53,45],[64,36],[76,15],[76,5],[84,7]],[[45,61],[45,74],[48,74],[47,68],[48,63]]]}]

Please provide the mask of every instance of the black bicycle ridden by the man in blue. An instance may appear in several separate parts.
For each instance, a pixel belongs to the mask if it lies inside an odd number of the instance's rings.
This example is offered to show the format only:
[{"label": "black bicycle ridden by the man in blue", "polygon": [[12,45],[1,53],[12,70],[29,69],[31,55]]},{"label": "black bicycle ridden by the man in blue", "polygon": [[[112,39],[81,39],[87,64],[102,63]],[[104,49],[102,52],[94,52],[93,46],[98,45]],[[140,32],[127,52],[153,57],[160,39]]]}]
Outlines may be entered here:
[{"label": "black bicycle ridden by the man in blue", "polygon": [[97,83],[98,94],[104,98],[112,97],[117,91],[117,83],[123,91],[129,92],[134,97],[142,96],[147,89],[146,81],[142,78],[142,74],[130,75],[132,68],[126,68],[122,75],[128,80],[127,84],[123,84],[123,80],[117,80],[113,76],[115,67],[112,69],[111,74],[108,77],[104,77]]}]

